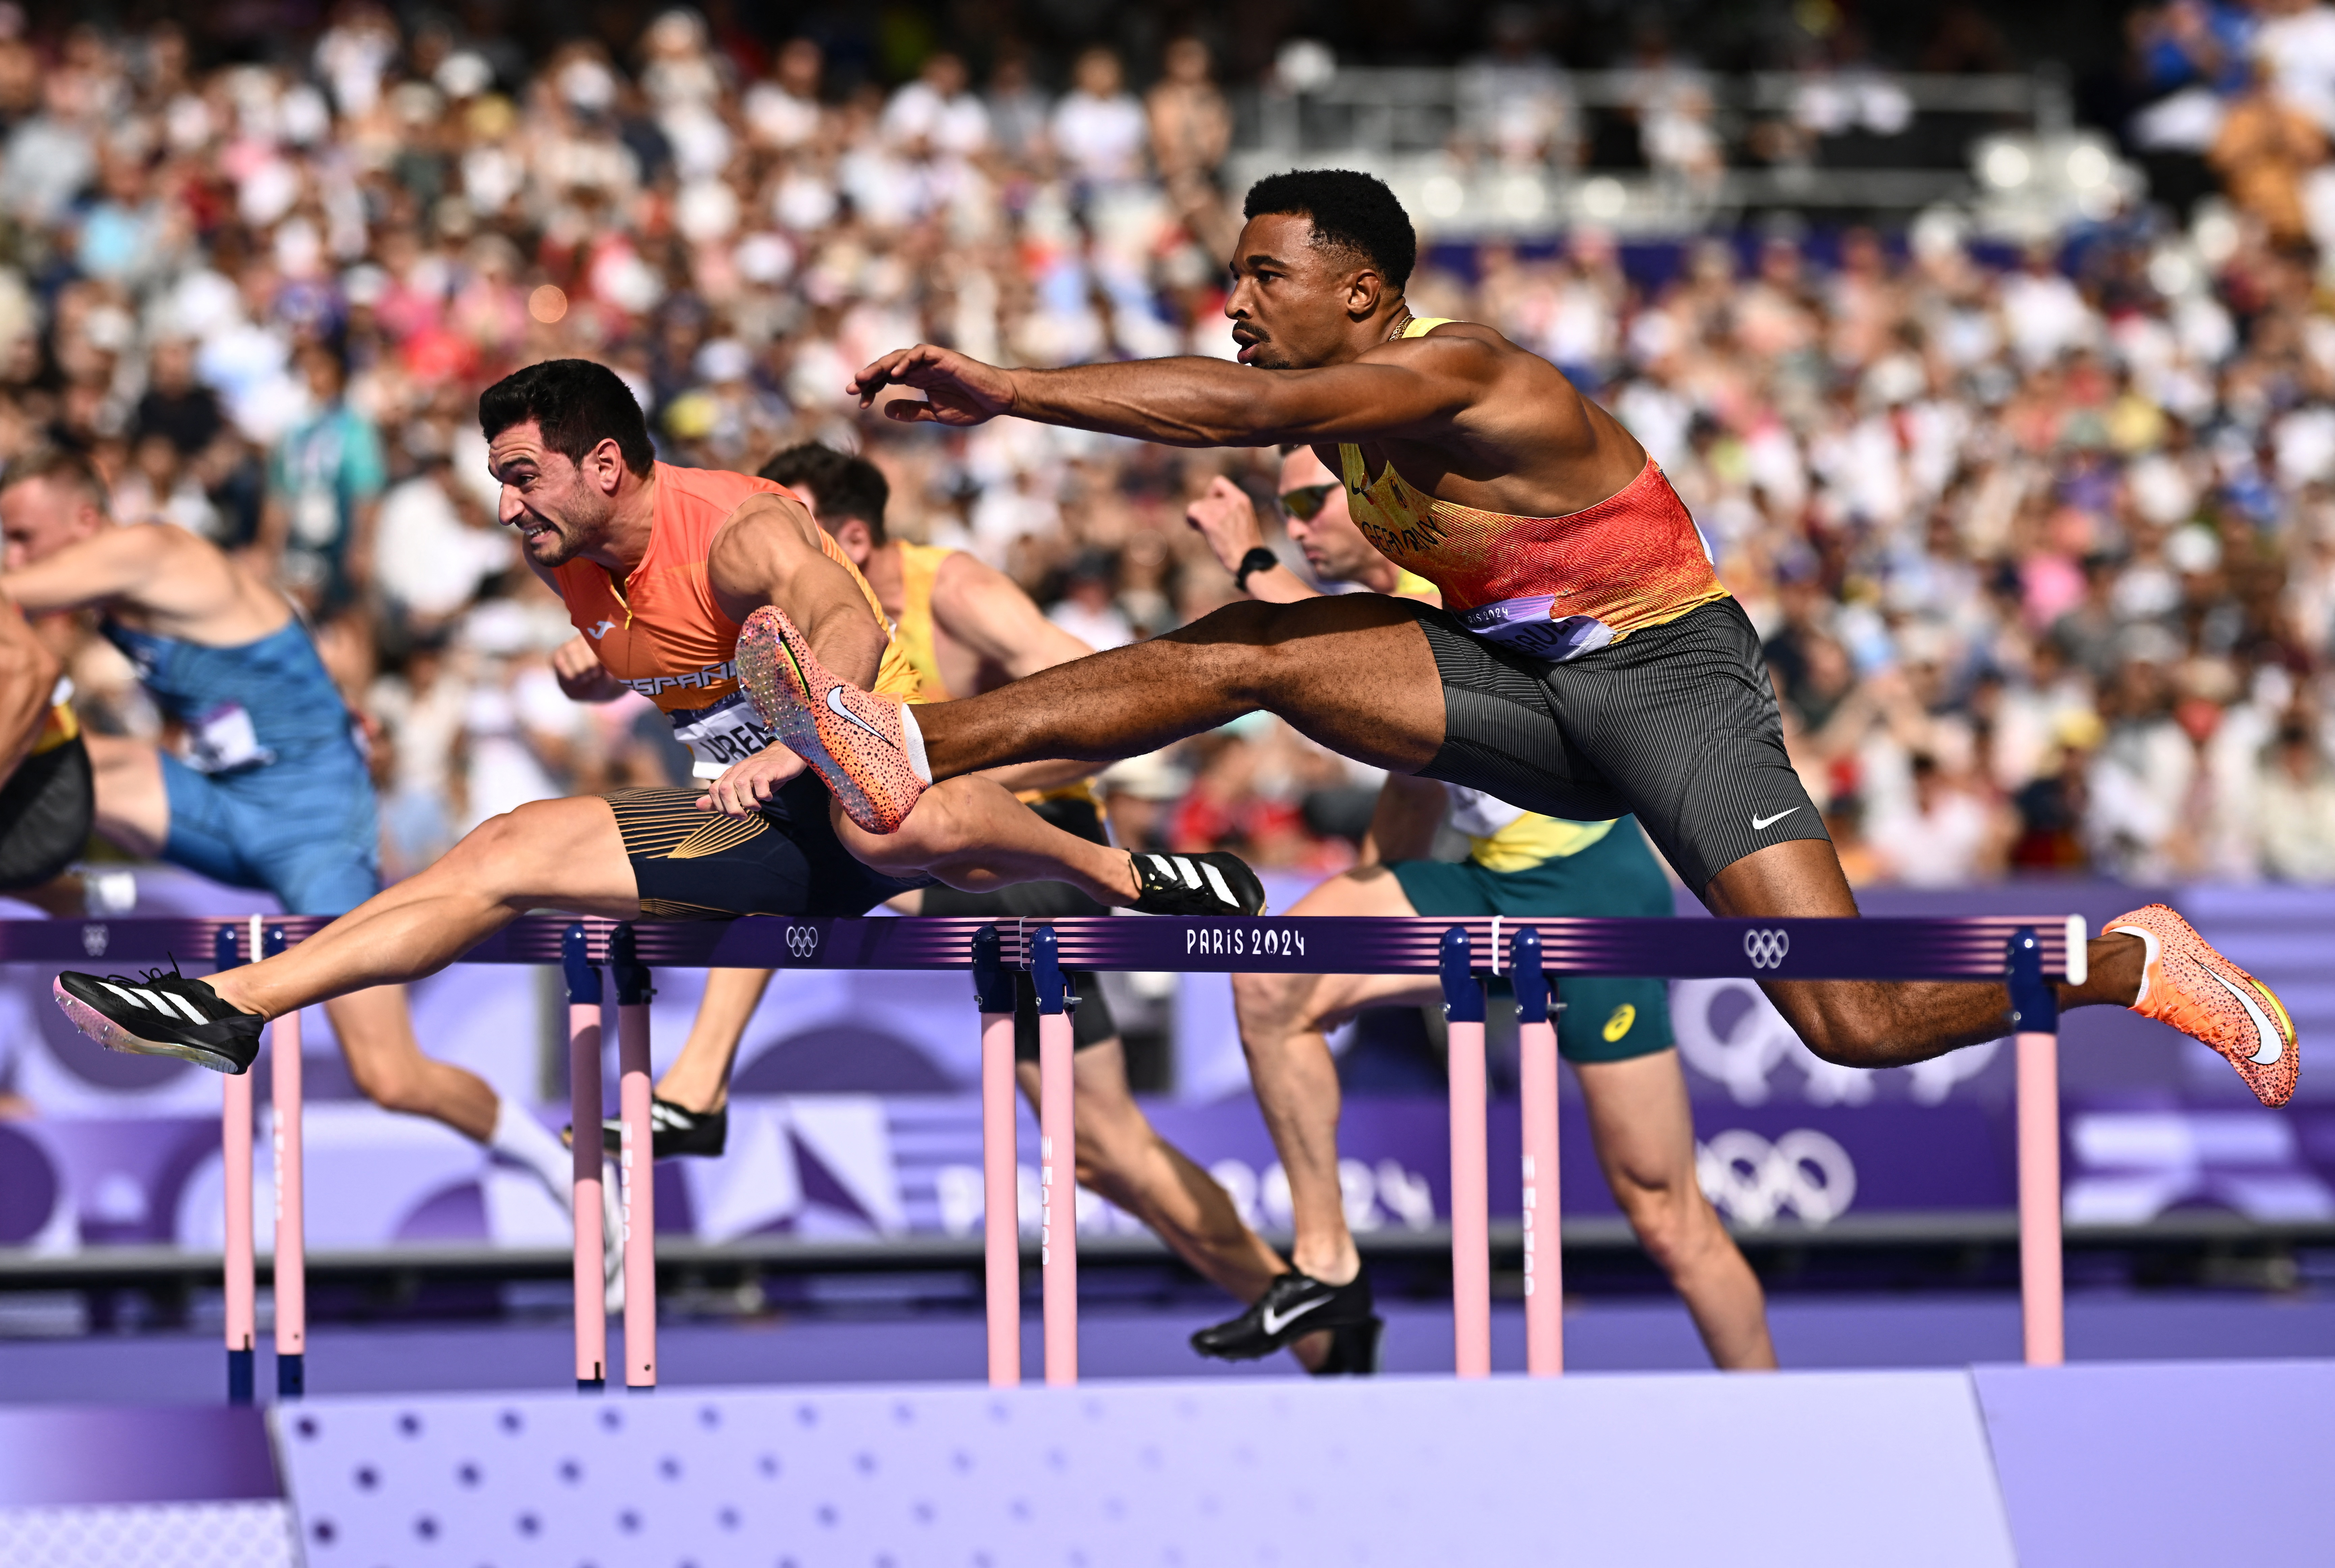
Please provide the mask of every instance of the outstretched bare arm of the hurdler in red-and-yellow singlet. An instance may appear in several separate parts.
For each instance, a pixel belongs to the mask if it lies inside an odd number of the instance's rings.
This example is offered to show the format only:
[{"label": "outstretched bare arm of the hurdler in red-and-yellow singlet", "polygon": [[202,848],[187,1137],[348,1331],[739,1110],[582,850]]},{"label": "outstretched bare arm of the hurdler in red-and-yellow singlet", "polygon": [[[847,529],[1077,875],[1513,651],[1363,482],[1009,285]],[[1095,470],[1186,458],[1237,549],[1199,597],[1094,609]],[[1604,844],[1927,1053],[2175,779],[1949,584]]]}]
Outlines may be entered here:
[{"label": "outstretched bare arm of the hurdler in red-and-yellow singlet", "polygon": [[1308,371],[1224,359],[1137,359],[1062,371],[1006,371],[950,348],[918,343],[876,359],[852,380],[866,408],[885,387],[885,415],[911,425],[981,425],[1002,413],[1039,425],[1097,429],[1165,446],[1275,446],[1427,436],[1466,413],[1499,373],[1471,334],[1382,343],[1347,364]]}]

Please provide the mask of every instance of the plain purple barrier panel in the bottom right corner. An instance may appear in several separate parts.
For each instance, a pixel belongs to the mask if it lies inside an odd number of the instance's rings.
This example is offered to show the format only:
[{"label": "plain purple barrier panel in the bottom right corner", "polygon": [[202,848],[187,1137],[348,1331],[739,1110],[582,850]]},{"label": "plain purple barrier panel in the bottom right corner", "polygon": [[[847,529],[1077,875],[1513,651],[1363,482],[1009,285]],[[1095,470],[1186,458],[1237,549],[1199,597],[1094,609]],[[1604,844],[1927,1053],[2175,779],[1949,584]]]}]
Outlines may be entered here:
[{"label": "plain purple barrier panel in the bottom right corner", "polygon": [[2335,1363],[1973,1377],[2024,1568],[2328,1561]]}]

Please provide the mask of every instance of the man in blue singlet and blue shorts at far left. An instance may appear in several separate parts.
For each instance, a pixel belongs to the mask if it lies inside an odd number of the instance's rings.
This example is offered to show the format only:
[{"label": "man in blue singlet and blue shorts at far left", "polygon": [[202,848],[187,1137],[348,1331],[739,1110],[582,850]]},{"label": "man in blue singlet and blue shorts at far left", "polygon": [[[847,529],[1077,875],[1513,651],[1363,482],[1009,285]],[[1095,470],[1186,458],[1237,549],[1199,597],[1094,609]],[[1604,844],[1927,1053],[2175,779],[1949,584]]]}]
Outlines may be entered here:
[{"label": "man in blue singlet and blue shorts at far left", "polygon": [[[177,754],[86,735],[96,828],[217,882],[276,894],[292,915],[346,915],[381,891],[374,782],[355,719],[292,604],[170,523],[117,527],[105,483],[72,453],[0,471],[0,595],[26,614],[100,611]],[[572,1160],[523,1106],[420,1052],[402,987],[325,1003],[350,1078],[378,1106],[446,1122],[542,1178],[565,1206]],[[616,1183],[602,1183],[614,1202]],[[602,1216],[609,1237],[614,1213]],[[609,1246],[614,1267],[616,1248]]]}]

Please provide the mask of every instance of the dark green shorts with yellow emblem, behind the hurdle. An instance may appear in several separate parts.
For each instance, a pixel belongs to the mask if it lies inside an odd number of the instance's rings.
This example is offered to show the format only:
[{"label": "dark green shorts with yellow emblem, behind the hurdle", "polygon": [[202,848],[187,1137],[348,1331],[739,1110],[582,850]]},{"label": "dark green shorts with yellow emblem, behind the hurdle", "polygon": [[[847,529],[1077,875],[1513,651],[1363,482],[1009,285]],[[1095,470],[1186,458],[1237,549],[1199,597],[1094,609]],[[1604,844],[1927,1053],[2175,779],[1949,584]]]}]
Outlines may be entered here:
[{"label": "dark green shorts with yellow emblem, behind the hurdle", "polygon": [[[1490,870],[1476,861],[1396,861],[1394,880],[1420,915],[1677,915],[1670,877],[1646,847],[1634,817],[1578,854],[1527,870]],[[1513,994],[1506,980],[1492,994]],[[1670,987],[1663,980],[1567,975],[1557,982],[1557,1052],[1567,1062],[1627,1062],[1670,1050]]]}]

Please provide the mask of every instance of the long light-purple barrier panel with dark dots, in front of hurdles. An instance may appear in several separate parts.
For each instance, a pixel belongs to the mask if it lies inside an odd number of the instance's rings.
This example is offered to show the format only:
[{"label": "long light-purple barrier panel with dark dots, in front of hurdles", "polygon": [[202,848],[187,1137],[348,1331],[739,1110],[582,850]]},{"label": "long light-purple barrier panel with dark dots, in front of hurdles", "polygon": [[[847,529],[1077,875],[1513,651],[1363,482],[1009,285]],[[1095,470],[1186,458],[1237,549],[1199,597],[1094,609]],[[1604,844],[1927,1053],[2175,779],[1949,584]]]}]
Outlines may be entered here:
[{"label": "long light-purple barrier panel with dark dots, in front of hurdles", "polygon": [[[2013,1563],[1961,1372],[311,1400],[308,1568]],[[1854,1482],[1838,1461],[1854,1456]]]}]

